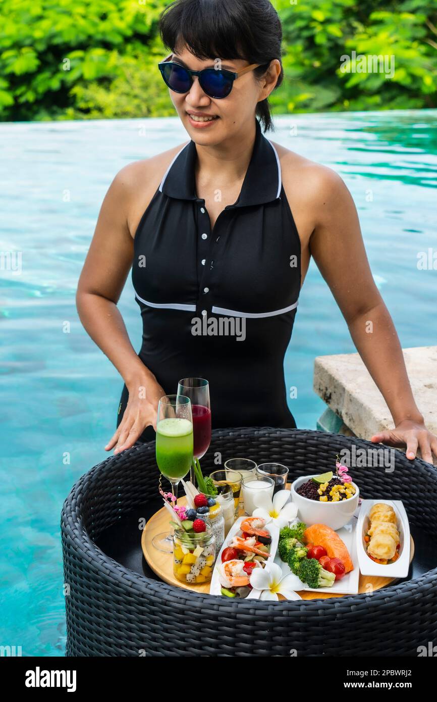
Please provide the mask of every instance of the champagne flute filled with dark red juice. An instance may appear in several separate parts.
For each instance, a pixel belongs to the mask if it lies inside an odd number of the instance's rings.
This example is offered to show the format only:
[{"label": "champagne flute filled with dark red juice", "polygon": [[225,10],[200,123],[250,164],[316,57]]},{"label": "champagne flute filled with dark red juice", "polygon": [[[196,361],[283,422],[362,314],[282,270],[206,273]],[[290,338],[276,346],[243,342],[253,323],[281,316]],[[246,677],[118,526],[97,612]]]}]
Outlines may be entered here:
[{"label": "champagne flute filled with dark red juice", "polygon": [[[205,378],[182,378],[177,385],[177,395],[189,397],[193,415],[194,460],[205,456],[211,442],[210,386]],[[199,465],[200,468],[200,465]],[[192,472],[190,480],[194,483]]]}]

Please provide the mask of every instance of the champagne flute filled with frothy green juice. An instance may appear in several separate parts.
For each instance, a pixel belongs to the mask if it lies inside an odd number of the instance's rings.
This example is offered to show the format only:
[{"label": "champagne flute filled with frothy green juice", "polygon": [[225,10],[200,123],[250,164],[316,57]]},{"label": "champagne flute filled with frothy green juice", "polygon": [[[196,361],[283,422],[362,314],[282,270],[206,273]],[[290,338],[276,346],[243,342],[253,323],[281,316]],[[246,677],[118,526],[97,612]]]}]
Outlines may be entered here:
[{"label": "champagne flute filled with frothy green juice", "polygon": [[[183,395],[164,395],[159,400],[156,419],[156,463],[168,479],[177,499],[177,485],[184,478],[193,460],[193,418],[191,401]],[[173,552],[171,534],[157,534],[155,548]]]}]

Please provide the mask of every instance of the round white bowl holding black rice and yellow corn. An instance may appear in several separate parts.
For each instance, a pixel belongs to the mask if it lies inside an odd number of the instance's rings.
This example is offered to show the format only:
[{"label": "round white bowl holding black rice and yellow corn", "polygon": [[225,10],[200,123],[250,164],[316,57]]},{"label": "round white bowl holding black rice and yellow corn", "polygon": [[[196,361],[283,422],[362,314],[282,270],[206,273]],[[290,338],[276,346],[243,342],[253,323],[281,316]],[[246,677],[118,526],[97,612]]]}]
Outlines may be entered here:
[{"label": "round white bowl holding black rice and yellow corn", "polygon": [[358,507],[360,490],[356,483],[353,482],[352,485],[356,490],[354,497],[349,498],[349,500],[342,500],[341,502],[318,502],[297,494],[296,490],[302,483],[307,482],[310,478],[314,478],[317,475],[317,473],[314,473],[314,475],[304,475],[303,477],[297,478],[291,485],[291,499],[295,505],[297,505],[302,522],[309,525],[326,524],[327,527],[337,531],[337,529],[344,527],[354,515]]}]

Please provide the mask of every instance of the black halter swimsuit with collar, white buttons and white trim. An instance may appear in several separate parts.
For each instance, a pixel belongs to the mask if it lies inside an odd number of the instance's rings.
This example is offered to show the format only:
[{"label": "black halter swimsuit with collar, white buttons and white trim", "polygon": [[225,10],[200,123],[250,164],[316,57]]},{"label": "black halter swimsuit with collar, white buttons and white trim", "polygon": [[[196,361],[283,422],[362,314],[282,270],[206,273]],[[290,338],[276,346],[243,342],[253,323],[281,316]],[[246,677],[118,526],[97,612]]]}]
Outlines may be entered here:
[{"label": "black halter swimsuit with collar, white buttons and white trim", "polygon": [[[257,121],[240,195],[212,231],[196,197],[196,154],[191,140],[176,155],[135,234],[139,357],[168,394],[180,378],[209,380],[213,428],[295,428],[283,359],[300,293],[300,239],[278,154]],[[125,385],[117,425],[127,400]],[[154,436],[148,427],[141,439]]]}]

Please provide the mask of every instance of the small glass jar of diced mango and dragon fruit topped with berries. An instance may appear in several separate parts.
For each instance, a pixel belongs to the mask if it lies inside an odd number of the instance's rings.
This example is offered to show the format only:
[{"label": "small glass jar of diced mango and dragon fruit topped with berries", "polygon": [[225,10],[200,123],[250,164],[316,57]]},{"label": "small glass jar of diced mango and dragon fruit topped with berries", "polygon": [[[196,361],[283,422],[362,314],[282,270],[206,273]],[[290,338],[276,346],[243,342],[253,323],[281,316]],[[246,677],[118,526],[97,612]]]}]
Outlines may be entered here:
[{"label": "small glass jar of diced mango and dragon fruit topped with berries", "polygon": [[206,531],[201,531],[199,534],[175,529],[173,573],[177,580],[187,585],[209,583],[213,573],[215,548],[213,527],[208,523]]}]

